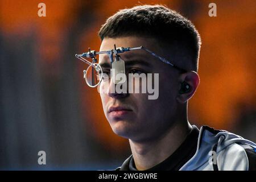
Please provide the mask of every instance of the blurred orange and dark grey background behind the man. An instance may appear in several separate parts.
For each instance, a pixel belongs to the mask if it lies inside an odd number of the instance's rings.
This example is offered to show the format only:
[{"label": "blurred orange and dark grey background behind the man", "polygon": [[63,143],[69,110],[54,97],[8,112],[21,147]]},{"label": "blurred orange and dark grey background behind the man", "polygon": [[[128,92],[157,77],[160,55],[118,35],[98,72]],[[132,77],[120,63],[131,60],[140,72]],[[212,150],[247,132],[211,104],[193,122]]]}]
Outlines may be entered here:
[{"label": "blurred orange and dark grey background behind the man", "polygon": [[[38,16],[40,2],[46,17]],[[211,2],[217,17],[208,15]],[[203,41],[189,121],[256,142],[256,1],[0,0],[0,169],[122,164],[129,143],[113,134],[74,55],[100,48],[97,32],[119,9],[156,3],[191,19]]]}]

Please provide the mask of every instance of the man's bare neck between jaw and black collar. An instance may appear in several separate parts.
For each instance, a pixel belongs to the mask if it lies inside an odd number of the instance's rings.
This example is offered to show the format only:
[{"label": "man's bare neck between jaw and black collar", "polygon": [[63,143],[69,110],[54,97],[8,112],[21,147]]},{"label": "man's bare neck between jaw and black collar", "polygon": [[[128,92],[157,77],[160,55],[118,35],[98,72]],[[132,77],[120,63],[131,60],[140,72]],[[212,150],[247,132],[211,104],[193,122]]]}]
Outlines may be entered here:
[{"label": "man's bare neck between jaw and black collar", "polygon": [[158,139],[137,142],[129,139],[134,163],[138,170],[146,170],[163,162],[184,142],[192,127],[185,121],[177,121],[167,133]]}]

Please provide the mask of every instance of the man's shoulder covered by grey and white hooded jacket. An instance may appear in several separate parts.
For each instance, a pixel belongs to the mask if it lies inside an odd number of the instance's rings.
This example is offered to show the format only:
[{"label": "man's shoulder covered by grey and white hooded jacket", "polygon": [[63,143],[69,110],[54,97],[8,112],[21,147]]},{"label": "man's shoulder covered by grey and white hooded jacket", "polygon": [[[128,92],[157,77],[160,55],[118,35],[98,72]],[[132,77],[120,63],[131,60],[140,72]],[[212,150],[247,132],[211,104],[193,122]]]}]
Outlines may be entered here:
[{"label": "man's shoulder covered by grey and white hooded jacket", "polygon": [[255,170],[256,144],[225,130],[200,129],[196,154],[180,170]]}]

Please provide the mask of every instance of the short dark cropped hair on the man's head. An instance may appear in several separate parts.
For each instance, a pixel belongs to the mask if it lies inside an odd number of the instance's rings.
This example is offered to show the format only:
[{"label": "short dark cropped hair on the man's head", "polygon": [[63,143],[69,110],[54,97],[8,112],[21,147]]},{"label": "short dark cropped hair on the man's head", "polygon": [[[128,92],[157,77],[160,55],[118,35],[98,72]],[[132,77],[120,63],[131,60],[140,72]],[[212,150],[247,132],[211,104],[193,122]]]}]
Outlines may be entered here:
[{"label": "short dark cropped hair on the man's head", "polygon": [[187,52],[186,57],[191,59],[190,69],[198,69],[201,46],[199,32],[190,20],[166,6],[142,5],[119,10],[106,20],[98,35],[101,41],[124,36],[155,38],[160,43],[174,45],[181,52],[180,55]]}]

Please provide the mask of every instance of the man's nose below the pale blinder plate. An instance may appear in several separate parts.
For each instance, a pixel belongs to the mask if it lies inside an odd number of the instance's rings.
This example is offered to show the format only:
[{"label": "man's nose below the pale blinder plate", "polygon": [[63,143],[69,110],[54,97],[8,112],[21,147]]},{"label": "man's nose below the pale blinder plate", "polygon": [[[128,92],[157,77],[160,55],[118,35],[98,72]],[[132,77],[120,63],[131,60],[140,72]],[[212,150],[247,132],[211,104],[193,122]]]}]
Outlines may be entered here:
[{"label": "man's nose below the pale blinder plate", "polygon": [[[125,87],[123,87],[125,86]],[[123,84],[114,84],[113,78],[109,82],[108,96],[112,98],[125,98],[129,96],[127,90],[127,81]]]}]

